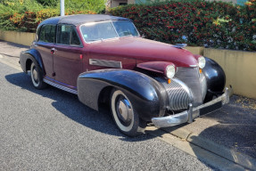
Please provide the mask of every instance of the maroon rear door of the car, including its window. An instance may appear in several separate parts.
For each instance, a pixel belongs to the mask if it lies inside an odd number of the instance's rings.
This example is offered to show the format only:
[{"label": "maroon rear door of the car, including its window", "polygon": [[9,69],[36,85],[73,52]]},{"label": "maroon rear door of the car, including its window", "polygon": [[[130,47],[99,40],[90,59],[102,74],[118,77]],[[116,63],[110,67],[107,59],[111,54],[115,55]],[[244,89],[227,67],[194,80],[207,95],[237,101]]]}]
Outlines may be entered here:
[{"label": "maroon rear door of the car, including its window", "polygon": [[37,34],[38,41],[34,43],[34,48],[40,53],[45,68],[45,78],[54,79],[53,52],[55,42],[55,25],[43,25]]}]

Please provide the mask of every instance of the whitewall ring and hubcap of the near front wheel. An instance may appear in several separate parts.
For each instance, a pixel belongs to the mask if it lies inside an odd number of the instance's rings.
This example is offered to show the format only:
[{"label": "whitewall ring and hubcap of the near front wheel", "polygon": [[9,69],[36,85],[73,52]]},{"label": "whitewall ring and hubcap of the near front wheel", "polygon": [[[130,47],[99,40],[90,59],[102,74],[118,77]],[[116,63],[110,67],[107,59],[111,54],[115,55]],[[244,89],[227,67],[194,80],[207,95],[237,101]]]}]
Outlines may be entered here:
[{"label": "whitewall ring and hubcap of the near front wheel", "polygon": [[111,110],[113,118],[120,130],[128,132],[134,125],[134,111],[128,97],[120,90],[115,91],[111,97]]}]

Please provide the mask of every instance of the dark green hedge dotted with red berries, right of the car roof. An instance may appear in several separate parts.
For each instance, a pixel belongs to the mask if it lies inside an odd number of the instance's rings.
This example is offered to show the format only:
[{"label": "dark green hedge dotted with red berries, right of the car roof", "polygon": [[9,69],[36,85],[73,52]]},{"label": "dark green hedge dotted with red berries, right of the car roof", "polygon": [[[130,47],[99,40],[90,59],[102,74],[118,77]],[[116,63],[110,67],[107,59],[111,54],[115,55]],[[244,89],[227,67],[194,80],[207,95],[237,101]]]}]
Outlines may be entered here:
[{"label": "dark green hedge dotted with red berries, right of the car roof", "polygon": [[244,6],[170,0],[129,4],[109,12],[133,20],[141,35],[149,39],[169,44],[256,51],[256,0]]}]

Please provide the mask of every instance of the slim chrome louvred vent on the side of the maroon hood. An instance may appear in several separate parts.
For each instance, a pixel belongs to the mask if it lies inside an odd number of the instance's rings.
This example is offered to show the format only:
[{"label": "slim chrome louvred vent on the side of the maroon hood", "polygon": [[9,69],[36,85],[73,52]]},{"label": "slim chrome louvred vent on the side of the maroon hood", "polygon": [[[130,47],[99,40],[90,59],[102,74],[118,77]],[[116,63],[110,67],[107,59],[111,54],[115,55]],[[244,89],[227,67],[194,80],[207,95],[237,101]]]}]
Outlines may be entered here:
[{"label": "slim chrome louvred vent on the side of the maroon hood", "polygon": [[89,64],[96,65],[96,66],[102,66],[102,67],[111,67],[111,68],[116,68],[116,69],[122,69],[121,61],[89,59]]}]

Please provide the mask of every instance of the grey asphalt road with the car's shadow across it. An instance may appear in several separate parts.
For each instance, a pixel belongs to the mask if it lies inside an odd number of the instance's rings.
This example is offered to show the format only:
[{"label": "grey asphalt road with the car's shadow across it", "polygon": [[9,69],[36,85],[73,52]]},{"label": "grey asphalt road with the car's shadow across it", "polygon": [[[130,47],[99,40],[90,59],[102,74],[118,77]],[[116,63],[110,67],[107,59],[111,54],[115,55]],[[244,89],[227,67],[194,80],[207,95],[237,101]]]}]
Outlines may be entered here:
[{"label": "grey asphalt road with the car's shadow across it", "polygon": [[0,170],[211,170],[153,135],[120,134],[108,113],[0,62]]}]

